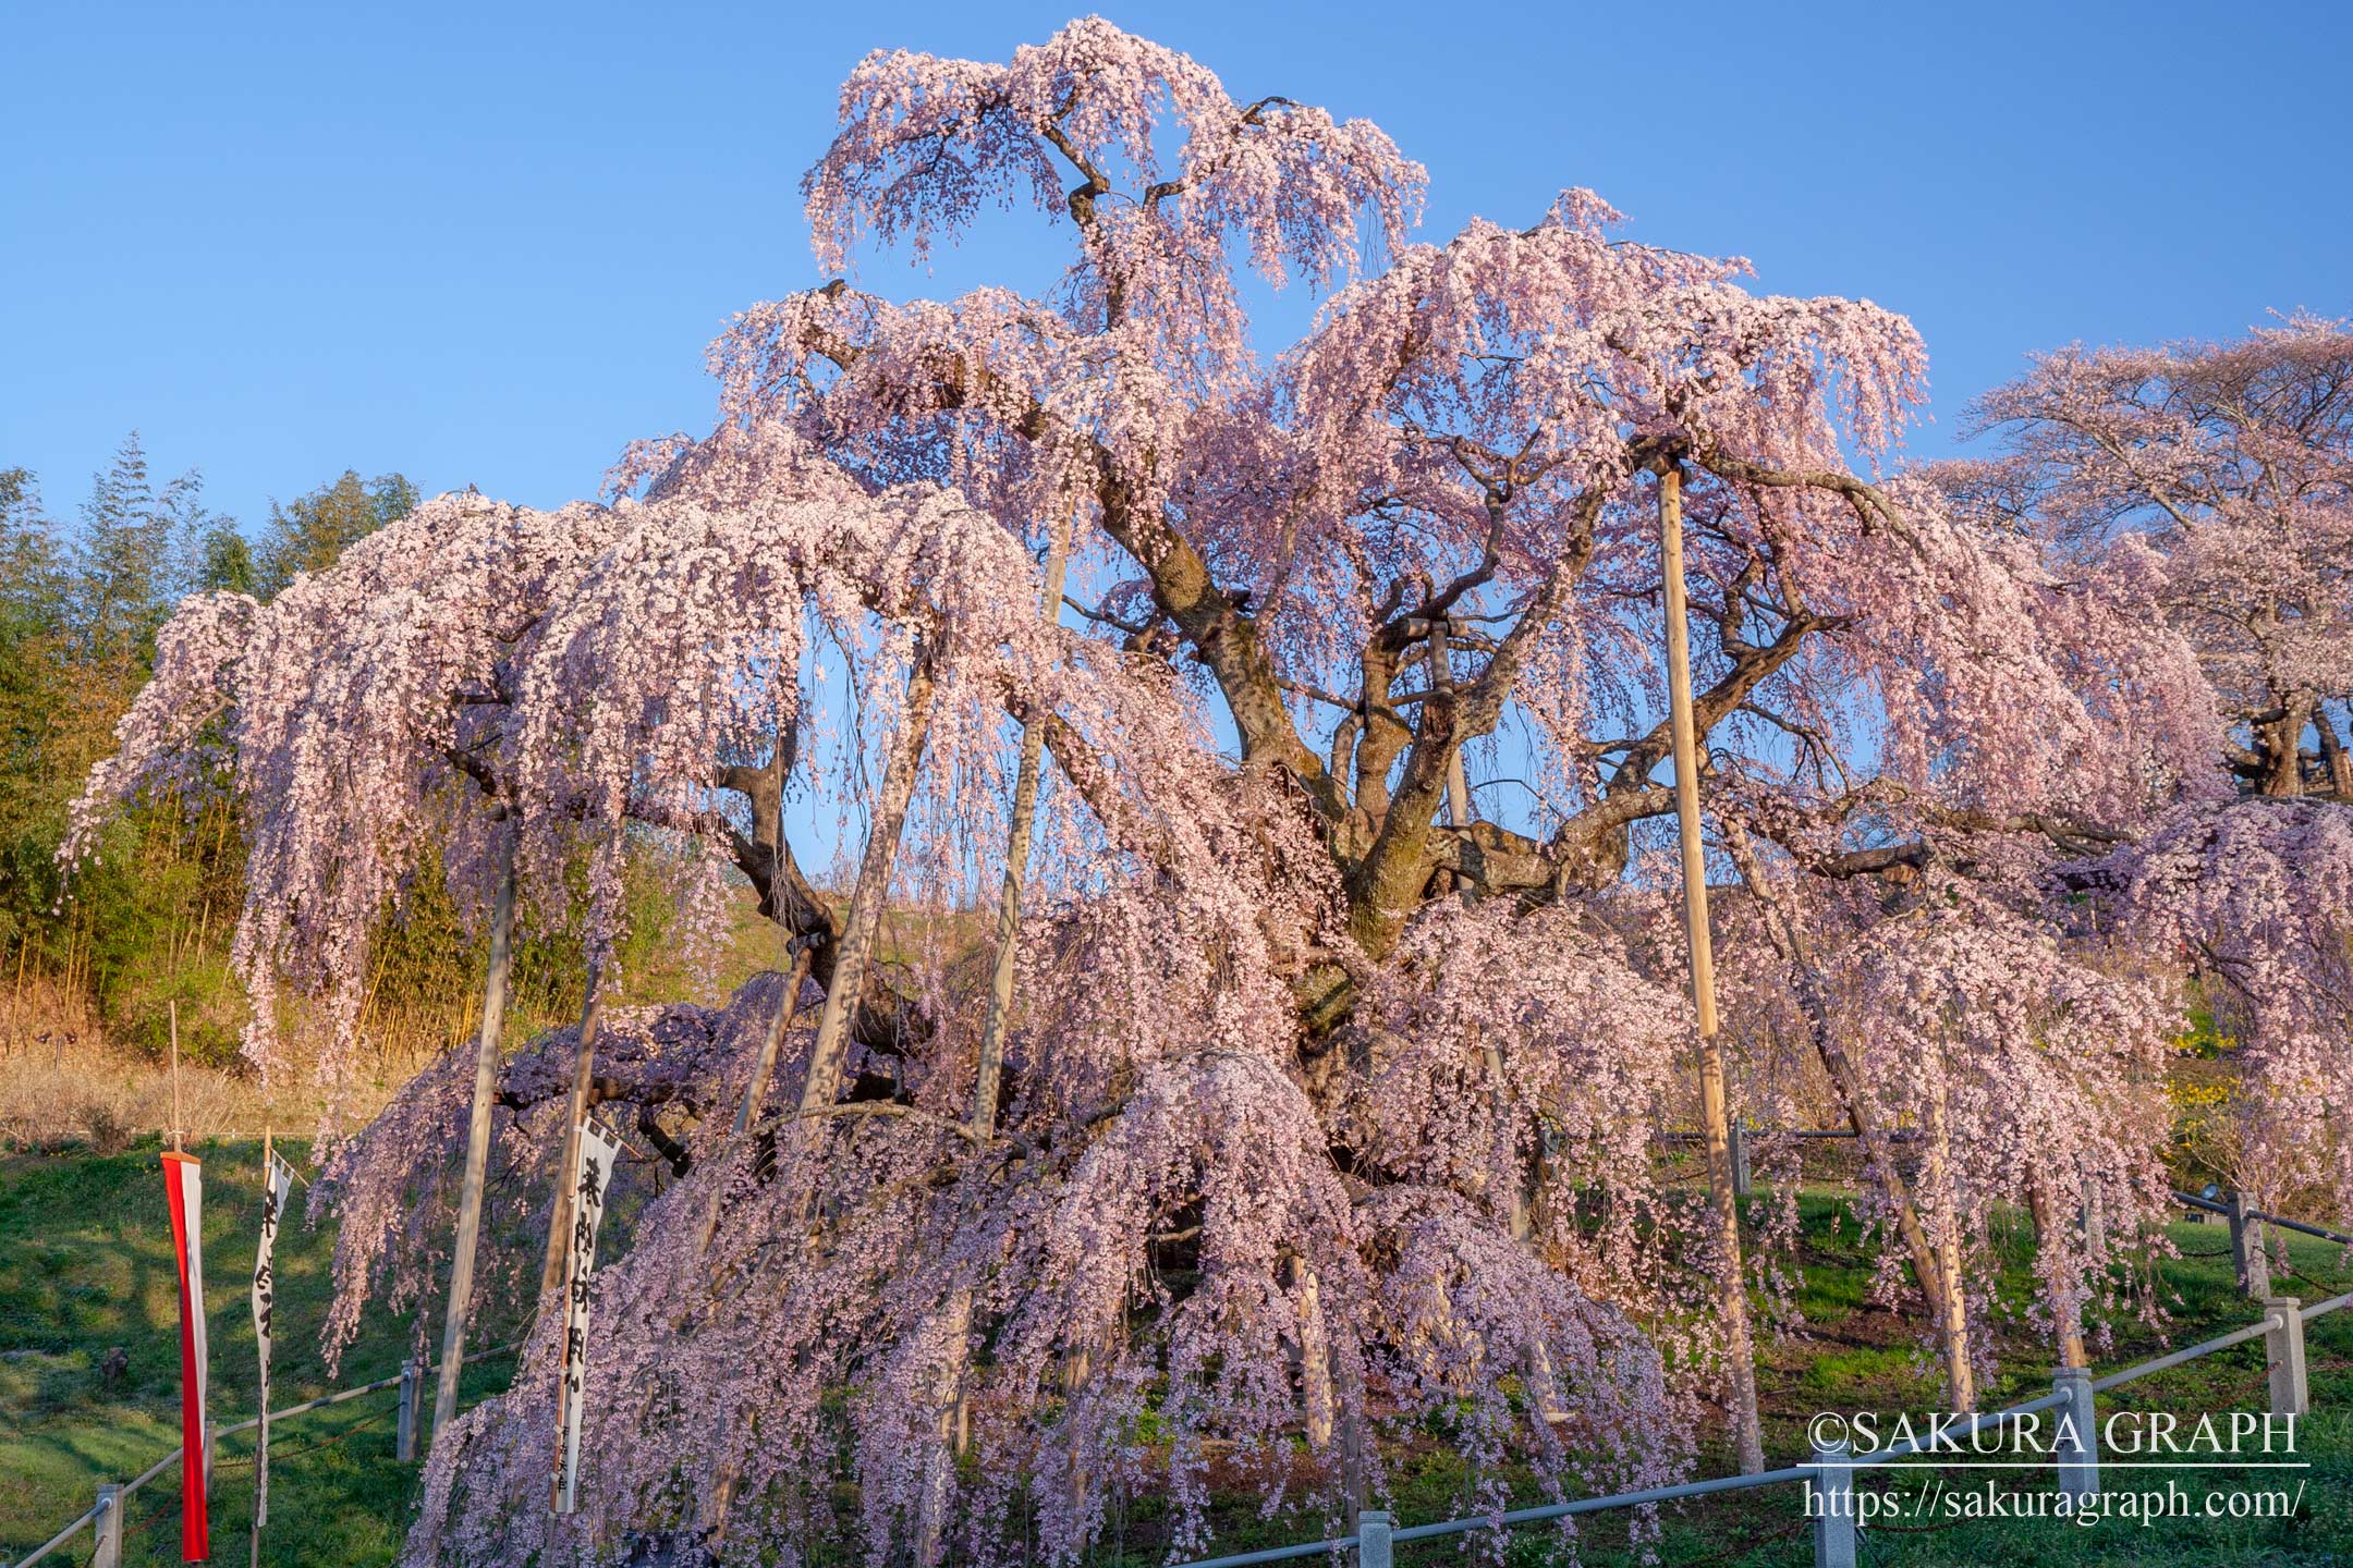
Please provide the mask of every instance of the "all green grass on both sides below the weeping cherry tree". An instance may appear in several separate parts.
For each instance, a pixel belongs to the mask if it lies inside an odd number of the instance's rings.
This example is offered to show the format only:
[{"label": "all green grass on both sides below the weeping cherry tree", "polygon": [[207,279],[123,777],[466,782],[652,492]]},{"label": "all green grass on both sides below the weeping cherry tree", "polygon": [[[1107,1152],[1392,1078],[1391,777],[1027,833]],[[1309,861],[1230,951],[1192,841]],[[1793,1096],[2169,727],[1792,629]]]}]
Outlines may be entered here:
[{"label": "all green grass on both sides below the weeping cherry tree", "polygon": [[[254,1399],[252,1316],[245,1274],[259,1208],[259,1145],[235,1143],[200,1150],[205,1157],[205,1258],[209,1286],[214,1422],[249,1418]],[[2228,1260],[2219,1258],[2226,1232],[2219,1225],[2184,1222],[2174,1229],[2184,1253],[2162,1281],[2172,1300],[2172,1345],[2254,1321],[2257,1309],[2238,1300]],[[280,1232],[280,1335],[273,1403],[294,1403],[327,1392],[318,1354],[318,1324],[329,1291],[327,1232],[299,1222]],[[1767,1415],[1767,1458],[1788,1465],[1805,1458],[1805,1422],[1817,1410],[1927,1410],[1937,1403],[1937,1378],[1920,1347],[1920,1324],[1866,1302],[1868,1258],[1857,1246],[1852,1215],[1831,1194],[1805,1199],[1805,1286],[1798,1309],[1805,1326],[1767,1345],[1760,1394]],[[2026,1237],[2005,1251],[2002,1300],[2026,1295]],[[2294,1267],[2304,1279],[2278,1288],[2306,1300],[2353,1288],[2339,1248],[2297,1241]],[[179,1441],[179,1349],[172,1286],[172,1237],[162,1206],[155,1147],[101,1157],[0,1157],[0,1559],[14,1561],[47,1540],[64,1521],[89,1507],[99,1481],[127,1481]],[[504,1338],[489,1326],[485,1342]],[[127,1368],[106,1382],[101,1366],[111,1347],[127,1352]],[[2113,1371],[2160,1354],[2158,1335],[2139,1326],[2118,1331],[2113,1345],[2094,1352],[2097,1371]],[[1958,1566],[1986,1563],[2165,1563],[2167,1568],[2238,1568],[2264,1563],[2353,1563],[2353,1309],[2311,1324],[2313,1418],[2301,1429],[2299,1460],[2308,1472],[2287,1472],[2304,1483],[2301,1509],[2289,1521],[2162,1521],[2151,1528],[2108,1521],[2080,1528],[2059,1521],[1958,1523],[1901,1521],[1866,1535],[1866,1563]],[[351,1349],[336,1385],[369,1382],[400,1368],[409,1352],[409,1324],[379,1316]],[[2047,1392],[2047,1356],[2024,1324],[2005,1331],[2005,1375],[1986,1389],[1986,1401],[2012,1403]],[[2202,1410],[2264,1408],[2261,1340],[2205,1361],[2160,1373],[2101,1396],[2101,1413],[2115,1408],[2162,1408],[2184,1415]],[[499,1387],[506,1363],[492,1361],[468,1373],[468,1401]],[[393,1394],[384,1392],[344,1406],[280,1422],[273,1434],[271,1514],[264,1542],[271,1563],[388,1563],[398,1549],[414,1500],[414,1467],[393,1460]],[[247,1556],[252,1507],[252,1439],[224,1439],[212,1488],[214,1556]],[[1428,1434],[1409,1450],[1391,1455],[1398,1490],[1391,1500],[1400,1523],[1447,1519],[1461,1512],[1464,1472],[1442,1434]],[[1699,1474],[1727,1474],[1729,1455],[1711,1446]],[[1871,1488],[1929,1486],[1934,1472],[1904,1467],[1878,1472]],[[2047,1472],[1946,1472],[1953,1488],[1981,1486],[2000,1476],[2005,1490],[2049,1490]],[[2125,1483],[2111,1469],[2108,1486]],[[2184,1486],[2200,1495],[2278,1479],[2245,1472],[2184,1472]],[[2146,1486],[2134,1479],[2134,1486]],[[1532,1488],[1522,1488],[1537,1500]],[[176,1561],[176,1472],[151,1481],[129,1507],[127,1563]],[[1221,1552],[1301,1540],[1313,1521],[1257,1519],[1252,1497],[1228,1495],[1217,1505]],[[1657,1561],[1671,1568],[1739,1566],[1788,1568],[1812,1563],[1812,1542],[1800,1519],[1798,1488],[1708,1497],[1661,1516]],[[1096,1563],[1146,1568],[1162,1561],[1167,1516],[1158,1500],[1136,1497],[1118,1507],[1113,1537]],[[1586,1561],[1617,1568],[1642,1561],[1628,1552],[1624,1516],[1600,1516],[1584,1526]],[[1534,1566],[1565,1561],[1544,1530],[1513,1537],[1501,1561]],[[87,1533],[52,1561],[87,1563]],[[838,1561],[856,1561],[842,1542]],[[1400,1563],[1457,1563],[1461,1542],[1409,1544]],[[1492,1561],[1482,1556],[1480,1561]]]}]

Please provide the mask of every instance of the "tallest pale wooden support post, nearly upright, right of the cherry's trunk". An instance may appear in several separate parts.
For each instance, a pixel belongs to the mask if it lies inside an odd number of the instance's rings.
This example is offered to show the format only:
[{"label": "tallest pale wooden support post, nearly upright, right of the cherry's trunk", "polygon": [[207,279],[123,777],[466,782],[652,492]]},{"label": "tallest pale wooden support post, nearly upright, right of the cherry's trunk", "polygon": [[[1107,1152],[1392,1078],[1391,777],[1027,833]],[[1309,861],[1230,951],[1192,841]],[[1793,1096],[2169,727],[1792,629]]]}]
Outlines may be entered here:
[{"label": "tallest pale wooden support post, nearly upright, right of the cherry's trunk", "polygon": [[1748,1328],[1748,1279],[1741,1258],[1741,1211],[1732,1197],[1732,1131],[1725,1110],[1725,1051],[1715,1039],[1715,954],[1708,940],[1708,863],[1699,844],[1699,736],[1692,717],[1692,628],[1682,602],[1682,473],[1659,473],[1659,557],[1666,599],[1666,693],[1675,741],[1675,818],[1682,830],[1682,933],[1692,954],[1692,1011],[1699,1016],[1699,1114],[1708,1138],[1708,1197],[1715,1208],[1718,1305],[1732,1373],[1732,1420],[1741,1474],[1765,1469],[1758,1425],[1755,1340]]}]

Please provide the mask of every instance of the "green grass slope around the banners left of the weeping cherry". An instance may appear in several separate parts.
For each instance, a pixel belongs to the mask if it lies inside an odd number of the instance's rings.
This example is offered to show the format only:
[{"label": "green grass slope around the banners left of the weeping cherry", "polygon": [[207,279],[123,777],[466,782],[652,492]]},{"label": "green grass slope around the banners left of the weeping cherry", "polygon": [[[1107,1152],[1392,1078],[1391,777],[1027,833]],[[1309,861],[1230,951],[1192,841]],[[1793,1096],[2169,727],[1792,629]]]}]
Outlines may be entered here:
[{"label": "green grass slope around the banners left of the weeping cherry", "polygon": [[[212,1420],[254,1415],[254,1319],[247,1279],[261,1211],[261,1145],[193,1150],[205,1161],[205,1321]],[[271,1403],[374,1382],[409,1354],[407,1319],[374,1316],[336,1380],[318,1349],[327,1314],[329,1229],[278,1232],[278,1338]],[[435,1319],[438,1328],[438,1319]],[[485,1345],[499,1342],[487,1326]],[[153,1140],[118,1157],[0,1157],[0,1559],[16,1561],[87,1509],[99,1481],[129,1481],[179,1446],[179,1298],[172,1222]],[[108,1349],[127,1366],[104,1375]],[[466,1403],[504,1387],[508,1363],[466,1373]],[[388,1563],[407,1528],[416,1467],[393,1460],[395,1394],[386,1389],[271,1429],[268,1563]],[[431,1418],[431,1387],[426,1389]],[[247,1561],[252,1434],[219,1443],[212,1554]],[[179,1561],[179,1469],[125,1509],[125,1563]],[[87,1563],[89,1533],[54,1563]]]}]

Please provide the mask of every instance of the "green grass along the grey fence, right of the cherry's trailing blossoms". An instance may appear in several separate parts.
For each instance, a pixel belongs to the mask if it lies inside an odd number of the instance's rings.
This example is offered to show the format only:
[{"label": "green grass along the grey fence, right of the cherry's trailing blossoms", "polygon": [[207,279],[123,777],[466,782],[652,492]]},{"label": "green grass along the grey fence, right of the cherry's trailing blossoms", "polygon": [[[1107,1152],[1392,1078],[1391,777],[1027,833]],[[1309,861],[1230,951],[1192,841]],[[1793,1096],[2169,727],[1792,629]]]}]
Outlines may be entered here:
[{"label": "green grass along the grey fence, right of the cherry's trailing blossoms", "polygon": [[[1941,1382],[1922,1345],[1922,1324],[1866,1305],[1871,1260],[1857,1246],[1852,1215],[1828,1192],[1802,1201],[1805,1284],[1795,1305],[1805,1326],[1769,1342],[1758,1368],[1758,1396],[1765,1415],[1765,1458],[1769,1467],[1807,1458],[1805,1425],[1817,1410],[1913,1410],[1939,1406]],[[1835,1220],[1835,1222],[1833,1222]],[[2174,1321],[2160,1340],[2141,1326],[2118,1326],[2115,1342],[2094,1347],[2094,1373],[2111,1373],[2137,1361],[2205,1340],[2259,1316],[2245,1302],[2231,1276],[2221,1225],[2184,1220],[2172,1227],[2184,1258],[2162,1269],[2167,1309]],[[2028,1234],[2024,1222],[2005,1246],[2000,1298],[2024,1302],[2028,1281]],[[2275,1279],[2273,1288],[2315,1302],[2353,1291],[2353,1269],[2341,1248],[2297,1239],[2292,1262],[2301,1279]],[[1981,1281],[1979,1281],[1981,1286]],[[2179,1298],[2179,1300],[2177,1300]],[[2165,1568],[2264,1568],[2273,1563],[2348,1563],[2353,1566],[2353,1309],[2334,1312],[2306,1326],[2311,1359],[2313,1415],[2299,1422],[2297,1460],[2304,1472],[2202,1469],[2179,1472],[2184,1490],[2200,1505],[2207,1490],[2235,1493],[2275,1488],[2294,1493],[2304,1483],[2299,1512],[2287,1521],[2207,1521],[2167,1519],[2148,1528],[2125,1521],[2097,1526],[2028,1521],[1899,1519],[1864,1537],[1864,1563],[1901,1568],[1988,1568],[1993,1563],[2162,1563]],[[2024,1324],[2002,1333],[2002,1375],[1984,1389],[1984,1408],[2000,1408],[2049,1392],[2049,1352]],[[2172,1410],[2195,1418],[2205,1410],[2264,1410],[2264,1342],[2254,1340],[2205,1356],[2184,1368],[2158,1373],[2099,1396],[2101,1420],[2111,1410]],[[1459,1519],[1466,1509],[1464,1469],[1442,1441],[1417,1443],[1407,1455],[1393,1455],[1395,1495],[1391,1509],[1400,1526],[1435,1519]],[[1737,1462],[1722,1441],[1704,1448],[1694,1476],[1732,1474]],[[2049,1493],[2052,1474],[2035,1472],[1965,1472],[1946,1469],[1948,1490],[1981,1488],[1998,1476],[2005,1493]],[[2134,1490],[2162,1486],[2129,1476]],[[1920,1462],[1901,1469],[1868,1472],[1871,1490],[1920,1493],[1939,1472]],[[2127,1472],[2108,1469],[2106,1490],[2127,1486]],[[1518,1486],[1518,1505],[1544,1502],[1534,1486]],[[1814,1561],[1814,1544],[1802,1519],[1802,1495],[1795,1486],[1774,1486],[1715,1497],[1701,1497],[1661,1509],[1661,1537],[1654,1556],[1628,1547],[1626,1514],[1600,1514],[1581,1521],[1584,1561],[1595,1568],[1631,1568],[1657,1561],[1666,1568],[1800,1568]],[[1920,1528],[1929,1526],[1929,1528]],[[1217,1552],[1249,1552],[1287,1544],[1313,1535],[1313,1523],[1299,1519],[1257,1519],[1247,1497],[1228,1497],[1217,1514]],[[1165,1509],[1155,1500],[1132,1502],[1120,1519],[1120,1537],[1101,1554],[1101,1563],[1148,1568],[1162,1561],[1167,1540]],[[1492,1552],[1494,1537],[1482,1542]],[[1466,1556],[1464,1540],[1407,1542],[1395,1549],[1398,1563],[1424,1568],[1433,1563],[1497,1561]],[[842,1559],[854,1561],[854,1559]],[[1320,1559],[1308,1559],[1320,1561]],[[1508,1535],[1501,1559],[1511,1568],[1567,1563],[1569,1554],[1544,1528]]]}]

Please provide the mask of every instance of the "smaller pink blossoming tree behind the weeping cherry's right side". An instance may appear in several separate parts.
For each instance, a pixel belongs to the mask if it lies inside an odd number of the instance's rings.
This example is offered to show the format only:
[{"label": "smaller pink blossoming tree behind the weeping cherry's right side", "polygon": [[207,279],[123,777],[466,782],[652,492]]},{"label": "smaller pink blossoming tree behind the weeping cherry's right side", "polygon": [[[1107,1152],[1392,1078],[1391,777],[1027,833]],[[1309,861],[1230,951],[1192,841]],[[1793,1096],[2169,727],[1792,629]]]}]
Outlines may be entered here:
[{"label": "smaller pink blossoming tree behind the weeping cherry's right side", "polygon": [[[1939,470],[2198,654],[2254,795],[2353,802],[2353,331],[2289,317],[2238,343],[2071,348],[1988,393],[2002,456]],[[2191,780],[2205,788],[2207,780]]]}]

